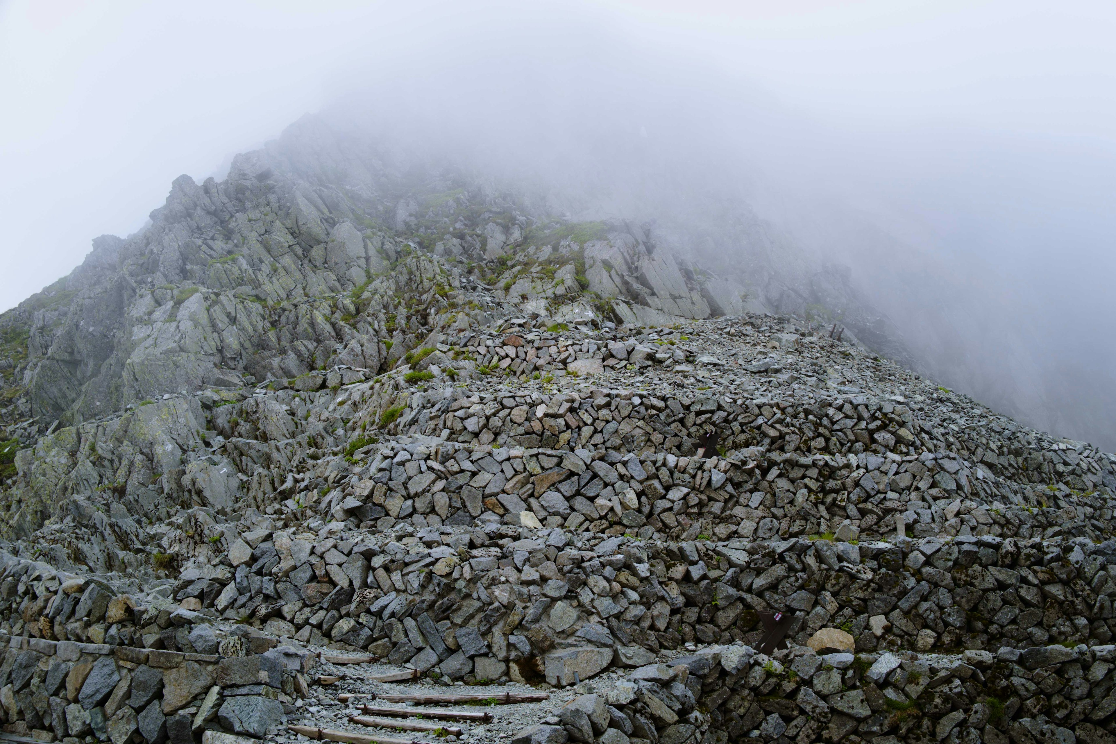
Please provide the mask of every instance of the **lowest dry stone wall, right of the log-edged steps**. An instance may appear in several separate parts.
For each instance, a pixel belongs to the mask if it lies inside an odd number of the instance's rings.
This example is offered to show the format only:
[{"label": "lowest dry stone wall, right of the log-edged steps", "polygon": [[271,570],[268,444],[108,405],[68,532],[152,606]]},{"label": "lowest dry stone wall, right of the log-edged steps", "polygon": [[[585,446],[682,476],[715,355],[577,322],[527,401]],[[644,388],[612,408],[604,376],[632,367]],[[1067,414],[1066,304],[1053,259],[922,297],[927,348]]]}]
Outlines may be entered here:
[{"label": "lowest dry stone wall, right of the log-edged steps", "polygon": [[512,744],[1110,744],[1116,646],[776,658],[711,646],[583,695]]}]

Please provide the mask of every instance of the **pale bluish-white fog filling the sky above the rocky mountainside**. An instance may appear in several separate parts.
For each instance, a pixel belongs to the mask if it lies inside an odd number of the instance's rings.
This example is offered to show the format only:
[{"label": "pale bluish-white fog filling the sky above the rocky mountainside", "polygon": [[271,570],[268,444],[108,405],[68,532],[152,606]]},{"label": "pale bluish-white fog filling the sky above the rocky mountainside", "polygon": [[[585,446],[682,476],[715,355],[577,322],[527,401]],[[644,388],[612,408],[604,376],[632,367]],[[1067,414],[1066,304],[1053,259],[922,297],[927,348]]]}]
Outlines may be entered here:
[{"label": "pale bluish-white fog filling the sky above the rocky mountainside", "polygon": [[921,371],[1114,450],[1114,30],[1100,2],[0,2],[0,307],[312,113],[711,265],[754,212]]}]

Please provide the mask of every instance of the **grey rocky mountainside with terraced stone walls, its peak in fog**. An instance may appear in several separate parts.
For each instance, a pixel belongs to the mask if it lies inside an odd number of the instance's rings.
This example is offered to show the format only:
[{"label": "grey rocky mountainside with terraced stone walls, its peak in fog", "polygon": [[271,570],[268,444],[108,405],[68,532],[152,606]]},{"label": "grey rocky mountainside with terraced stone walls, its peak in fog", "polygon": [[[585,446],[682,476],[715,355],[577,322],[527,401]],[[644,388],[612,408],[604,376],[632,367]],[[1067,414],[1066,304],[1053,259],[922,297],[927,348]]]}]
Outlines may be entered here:
[{"label": "grey rocky mountainside with terraced stone walls, its peak in fog", "polygon": [[309,124],[183,176],[0,319],[6,731],[1114,741],[1116,457],[754,289]]}]

